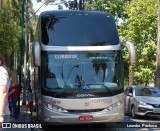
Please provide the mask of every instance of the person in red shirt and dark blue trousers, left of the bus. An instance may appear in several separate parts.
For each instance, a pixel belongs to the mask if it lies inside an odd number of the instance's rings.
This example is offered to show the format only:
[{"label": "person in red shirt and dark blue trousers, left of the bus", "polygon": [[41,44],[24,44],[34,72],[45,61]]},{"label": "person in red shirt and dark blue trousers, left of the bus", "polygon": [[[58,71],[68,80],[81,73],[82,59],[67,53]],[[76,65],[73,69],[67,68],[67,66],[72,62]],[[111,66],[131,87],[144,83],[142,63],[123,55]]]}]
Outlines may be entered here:
[{"label": "person in red shirt and dark blue trousers, left of the bus", "polygon": [[19,95],[18,84],[16,83],[14,77],[11,77],[10,82],[11,82],[11,87],[8,95],[10,97],[11,108],[12,108],[11,119],[15,120],[15,119],[18,119],[18,108],[17,108],[17,101],[18,101],[18,95]]}]

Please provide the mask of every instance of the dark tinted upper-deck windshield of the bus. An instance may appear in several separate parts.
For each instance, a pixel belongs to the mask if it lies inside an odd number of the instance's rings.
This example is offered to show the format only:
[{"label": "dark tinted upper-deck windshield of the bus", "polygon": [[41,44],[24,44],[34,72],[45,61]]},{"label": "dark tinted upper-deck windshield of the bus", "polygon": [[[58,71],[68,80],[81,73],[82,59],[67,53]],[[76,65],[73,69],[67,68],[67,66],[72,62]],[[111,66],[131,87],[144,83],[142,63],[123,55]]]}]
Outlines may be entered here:
[{"label": "dark tinted upper-deck windshield of the bus", "polygon": [[[99,24],[101,23],[101,24]],[[104,46],[119,44],[111,15],[92,12],[48,13],[41,16],[41,41],[50,46]]]}]

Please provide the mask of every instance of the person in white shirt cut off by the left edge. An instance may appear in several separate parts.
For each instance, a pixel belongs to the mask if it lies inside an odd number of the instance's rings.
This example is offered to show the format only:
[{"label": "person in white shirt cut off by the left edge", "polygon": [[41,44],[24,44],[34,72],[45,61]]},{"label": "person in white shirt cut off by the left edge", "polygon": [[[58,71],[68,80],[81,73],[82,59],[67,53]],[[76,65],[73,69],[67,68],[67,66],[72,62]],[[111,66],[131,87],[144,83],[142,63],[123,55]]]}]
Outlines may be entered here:
[{"label": "person in white shirt cut off by the left edge", "polygon": [[5,61],[0,53],[0,127],[2,122],[10,121],[10,111],[8,108],[9,76],[5,66]]}]

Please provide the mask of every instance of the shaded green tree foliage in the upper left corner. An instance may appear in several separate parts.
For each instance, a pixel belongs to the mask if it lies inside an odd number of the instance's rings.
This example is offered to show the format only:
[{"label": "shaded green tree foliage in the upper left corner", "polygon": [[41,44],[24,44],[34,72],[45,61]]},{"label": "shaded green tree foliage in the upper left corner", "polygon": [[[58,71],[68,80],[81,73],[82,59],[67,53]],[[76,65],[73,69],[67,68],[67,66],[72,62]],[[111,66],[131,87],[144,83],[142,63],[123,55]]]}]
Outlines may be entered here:
[{"label": "shaded green tree foliage in the upper left corner", "polygon": [[[32,10],[31,0],[30,11]],[[15,57],[19,58],[20,53],[20,26],[22,18],[22,0],[4,0],[0,9],[0,52],[6,60],[6,64],[10,69],[13,69]],[[30,27],[32,30],[32,27]],[[33,32],[33,31],[32,31]],[[32,33],[31,32],[31,33]],[[25,32],[24,32],[25,33]],[[32,36],[32,34],[31,34]],[[23,38],[23,44],[24,44]],[[22,45],[22,52],[25,46]],[[23,56],[22,56],[23,58]]]}]

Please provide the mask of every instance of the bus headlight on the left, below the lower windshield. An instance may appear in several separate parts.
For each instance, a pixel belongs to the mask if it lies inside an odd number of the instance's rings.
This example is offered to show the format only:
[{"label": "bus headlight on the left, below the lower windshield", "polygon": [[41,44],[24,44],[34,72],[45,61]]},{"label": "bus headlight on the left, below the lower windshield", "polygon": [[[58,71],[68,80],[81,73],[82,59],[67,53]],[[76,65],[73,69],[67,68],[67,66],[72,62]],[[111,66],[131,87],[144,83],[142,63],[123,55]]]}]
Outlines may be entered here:
[{"label": "bus headlight on the left, below the lower windshield", "polygon": [[59,113],[67,113],[68,111],[61,108],[61,107],[58,107],[56,105],[51,105],[51,104],[45,104],[45,107],[51,111],[54,111],[54,112],[59,112]]}]

